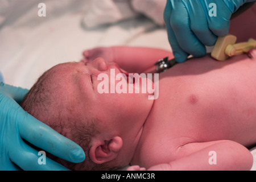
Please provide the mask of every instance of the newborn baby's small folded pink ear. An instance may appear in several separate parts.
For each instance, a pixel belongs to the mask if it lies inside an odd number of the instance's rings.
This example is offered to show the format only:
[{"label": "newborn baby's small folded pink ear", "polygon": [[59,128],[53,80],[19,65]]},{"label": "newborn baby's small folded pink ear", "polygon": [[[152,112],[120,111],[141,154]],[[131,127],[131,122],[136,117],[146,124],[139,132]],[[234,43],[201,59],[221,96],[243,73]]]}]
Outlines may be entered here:
[{"label": "newborn baby's small folded pink ear", "polygon": [[113,137],[110,140],[94,139],[89,149],[90,159],[97,164],[109,162],[117,158],[123,146],[121,137]]}]

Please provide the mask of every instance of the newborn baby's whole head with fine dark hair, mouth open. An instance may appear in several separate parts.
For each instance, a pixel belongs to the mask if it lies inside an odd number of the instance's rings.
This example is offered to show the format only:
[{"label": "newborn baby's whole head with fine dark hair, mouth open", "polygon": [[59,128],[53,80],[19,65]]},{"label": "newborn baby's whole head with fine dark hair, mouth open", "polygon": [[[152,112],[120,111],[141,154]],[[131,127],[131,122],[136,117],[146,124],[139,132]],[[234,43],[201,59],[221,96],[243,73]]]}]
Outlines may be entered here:
[{"label": "newborn baby's whole head with fine dark hair, mouth open", "polygon": [[[51,156],[69,169],[116,169],[133,158],[154,101],[147,93],[99,93],[97,77],[100,73],[111,77],[110,69],[122,73],[118,65],[102,58],[56,65],[39,78],[21,104],[84,149],[86,159],[79,164]],[[117,83],[109,81],[109,88]]]}]

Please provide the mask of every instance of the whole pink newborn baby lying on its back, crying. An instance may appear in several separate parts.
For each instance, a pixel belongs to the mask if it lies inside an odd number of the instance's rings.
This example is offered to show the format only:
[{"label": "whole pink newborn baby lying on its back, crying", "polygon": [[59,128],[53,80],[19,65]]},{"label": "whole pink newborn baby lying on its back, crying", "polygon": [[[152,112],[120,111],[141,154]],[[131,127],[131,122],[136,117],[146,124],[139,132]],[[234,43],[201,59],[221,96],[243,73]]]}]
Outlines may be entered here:
[{"label": "whole pink newborn baby lying on its back, crying", "polygon": [[156,60],[173,56],[152,48],[96,48],[79,63],[49,69],[22,107],[84,148],[83,163],[52,156],[69,169],[249,170],[253,156],[246,147],[256,143],[255,50],[251,55],[176,64],[160,73],[159,97],[148,100],[149,93],[100,94],[98,75],[154,73]]}]

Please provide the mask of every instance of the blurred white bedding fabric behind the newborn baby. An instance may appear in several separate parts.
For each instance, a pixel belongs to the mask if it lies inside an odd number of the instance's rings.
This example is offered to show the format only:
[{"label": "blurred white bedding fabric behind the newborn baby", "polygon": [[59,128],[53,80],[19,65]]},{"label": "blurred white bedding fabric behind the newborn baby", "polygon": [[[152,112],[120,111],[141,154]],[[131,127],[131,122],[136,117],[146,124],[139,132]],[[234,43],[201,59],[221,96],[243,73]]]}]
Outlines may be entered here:
[{"label": "blurred white bedding fabric behind the newborn baby", "polygon": [[[46,17],[38,16],[40,2]],[[126,45],[171,51],[161,13],[165,3],[0,0],[0,71],[7,84],[29,89],[53,65],[79,61],[85,49]],[[251,154],[256,170],[256,148]]]}]

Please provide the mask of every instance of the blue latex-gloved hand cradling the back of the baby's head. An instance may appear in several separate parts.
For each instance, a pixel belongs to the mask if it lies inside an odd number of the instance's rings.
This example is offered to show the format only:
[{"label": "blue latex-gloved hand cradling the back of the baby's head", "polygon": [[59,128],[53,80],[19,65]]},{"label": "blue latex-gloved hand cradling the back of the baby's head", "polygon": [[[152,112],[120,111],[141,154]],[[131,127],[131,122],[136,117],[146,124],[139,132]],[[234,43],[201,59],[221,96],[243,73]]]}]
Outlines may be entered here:
[{"label": "blue latex-gloved hand cradling the back of the baby's head", "polygon": [[38,121],[19,106],[18,103],[27,92],[27,89],[0,82],[0,170],[67,169],[49,158],[46,158],[46,164],[40,165],[38,159],[41,155],[24,140],[59,158],[82,162],[85,154],[79,145]]}]

